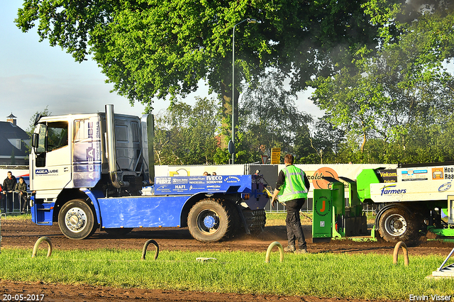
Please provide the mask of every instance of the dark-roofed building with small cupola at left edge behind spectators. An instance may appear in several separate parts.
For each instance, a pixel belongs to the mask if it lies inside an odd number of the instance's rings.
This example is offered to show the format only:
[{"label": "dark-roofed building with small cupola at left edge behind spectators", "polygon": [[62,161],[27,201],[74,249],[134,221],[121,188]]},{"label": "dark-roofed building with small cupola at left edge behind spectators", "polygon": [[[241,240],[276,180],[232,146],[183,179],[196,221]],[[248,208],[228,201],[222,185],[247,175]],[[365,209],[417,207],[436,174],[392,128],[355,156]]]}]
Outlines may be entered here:
[{"label": "dark-roofed building with small cupola at left edge behind spectators", "polygon": [[28,165],[28,134],[16,125],[11,113],[6,122],[0,121],[0,165]]}]

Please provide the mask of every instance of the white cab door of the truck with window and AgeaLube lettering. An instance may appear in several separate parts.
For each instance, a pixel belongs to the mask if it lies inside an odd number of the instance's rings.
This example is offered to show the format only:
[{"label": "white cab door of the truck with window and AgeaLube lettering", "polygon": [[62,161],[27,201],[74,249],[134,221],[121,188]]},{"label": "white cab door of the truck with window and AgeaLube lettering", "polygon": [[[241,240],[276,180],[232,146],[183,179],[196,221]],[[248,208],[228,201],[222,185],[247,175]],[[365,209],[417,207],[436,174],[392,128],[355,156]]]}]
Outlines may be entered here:
[{"label": "white cab door of the truck with window and AgeaLube lettering", "polygon": [[40,123],[38,146],[33,152],[33,190],[61,190],[71,181],[68,122]]}]

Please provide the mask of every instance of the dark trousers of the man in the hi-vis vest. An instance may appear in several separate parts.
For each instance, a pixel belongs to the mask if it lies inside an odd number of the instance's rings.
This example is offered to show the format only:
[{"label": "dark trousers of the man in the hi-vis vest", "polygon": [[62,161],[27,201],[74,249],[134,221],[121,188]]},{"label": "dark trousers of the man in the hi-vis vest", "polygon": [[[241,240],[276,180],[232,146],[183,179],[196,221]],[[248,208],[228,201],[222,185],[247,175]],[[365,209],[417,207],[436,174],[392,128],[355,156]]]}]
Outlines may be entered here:
[{"label": "dark trousers of the man in the hi-vis vest", "polygon": [[306,249],[306,239],[304,238],[303,228],[301,228],[301,220],[299,218],[299,210],[306,202],[306,198],[292,199],[285,202],[287,210],[287,218],[285,218],[285,226],[287,227],[287,239],[289,245],[295,245],[298,240],[298,248]]}]

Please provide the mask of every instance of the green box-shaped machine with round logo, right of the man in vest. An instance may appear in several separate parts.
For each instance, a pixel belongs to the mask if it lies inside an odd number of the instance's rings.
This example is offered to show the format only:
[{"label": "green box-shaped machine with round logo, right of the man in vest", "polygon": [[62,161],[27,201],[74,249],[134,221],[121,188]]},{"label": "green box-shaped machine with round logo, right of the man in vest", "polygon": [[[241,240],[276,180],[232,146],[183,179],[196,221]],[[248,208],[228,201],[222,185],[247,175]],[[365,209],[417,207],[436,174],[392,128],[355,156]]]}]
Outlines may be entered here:
[{"label": "green box-shaped machine with round logo, right of the man in vest", "polygon": [[[360,235],[367,232],[367,218],[362,214],[356,182],[341,177],[323,177],[329,181],[328,189],[314,189],[312,240],[325,242],[331,238]],[[348,199],[345,198],[345,188]]]}]

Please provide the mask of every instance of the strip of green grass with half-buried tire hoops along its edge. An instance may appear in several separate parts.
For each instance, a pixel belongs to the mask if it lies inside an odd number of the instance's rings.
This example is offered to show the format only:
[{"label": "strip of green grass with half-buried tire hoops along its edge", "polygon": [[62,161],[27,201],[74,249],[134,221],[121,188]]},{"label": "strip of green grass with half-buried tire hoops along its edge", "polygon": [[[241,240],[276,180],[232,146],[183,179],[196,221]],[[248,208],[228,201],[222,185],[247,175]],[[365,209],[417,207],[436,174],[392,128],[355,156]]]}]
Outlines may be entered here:
[{"label": "strip of green grass with half-buried tire hoops along its edge", "polygon": [[[393,300],[410,294],[454,295],[454,279],[425,279],[443,261],[439,256],[410,257],[404,267],[402,257],[394,266],[391,255],[375,254],[291,254],[281,263],[272,252],[265,263],[265,252],[162,251],[156,261],[153,249],[145,261],[141,250],[55,250],[50,258],[46,253],[41,249],[31,258],[31,250],[2,249],[0,279]],[[197,257],[217,260],[197,262]]]}]

